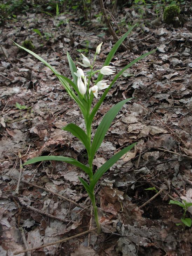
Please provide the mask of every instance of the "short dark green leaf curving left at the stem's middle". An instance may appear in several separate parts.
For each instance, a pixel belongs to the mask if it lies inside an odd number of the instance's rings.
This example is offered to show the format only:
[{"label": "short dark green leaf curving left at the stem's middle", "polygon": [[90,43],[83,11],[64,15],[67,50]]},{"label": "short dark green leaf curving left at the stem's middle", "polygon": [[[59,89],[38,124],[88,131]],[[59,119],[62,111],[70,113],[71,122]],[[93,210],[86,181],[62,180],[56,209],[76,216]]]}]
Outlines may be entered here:
[{"label": "short dark green leaf curving left at the stem's middle", "polygon": [[71,132],[75,137],[77,137],[84,144],[85,148],[87,149],[87,153],[90,154],[89,140],[83,129],[74,123],[69,123],[63,127],[62,130]]}]

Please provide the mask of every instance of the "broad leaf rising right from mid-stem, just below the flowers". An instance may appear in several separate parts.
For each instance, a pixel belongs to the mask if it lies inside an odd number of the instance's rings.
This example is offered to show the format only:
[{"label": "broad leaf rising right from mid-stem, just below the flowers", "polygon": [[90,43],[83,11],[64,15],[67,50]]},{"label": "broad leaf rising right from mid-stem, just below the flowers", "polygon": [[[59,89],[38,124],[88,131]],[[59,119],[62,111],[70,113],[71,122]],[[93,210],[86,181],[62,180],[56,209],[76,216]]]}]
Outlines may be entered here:
[{"label": "broad leaf rising right from mid-stem, just below the flowers", "polygon": [[92,159],[95,156],[97,149],[100,147],[100,145],[105,137],[105,134],[107,133],[107,130],[109,129],[109,127],[111,125],[111,122],[114,120],[115,116],[117,115],[119,110],[122,108],[122,106],[131,99],[133,99],[133,98],[129,98],[129,99],[122,100],[122,101],[118,102],[115,106],[113,106],[107,112],[107,114],[104,115],[101,123],[97,127],[95,136],[92,141],[92,145],[91,145]]}]

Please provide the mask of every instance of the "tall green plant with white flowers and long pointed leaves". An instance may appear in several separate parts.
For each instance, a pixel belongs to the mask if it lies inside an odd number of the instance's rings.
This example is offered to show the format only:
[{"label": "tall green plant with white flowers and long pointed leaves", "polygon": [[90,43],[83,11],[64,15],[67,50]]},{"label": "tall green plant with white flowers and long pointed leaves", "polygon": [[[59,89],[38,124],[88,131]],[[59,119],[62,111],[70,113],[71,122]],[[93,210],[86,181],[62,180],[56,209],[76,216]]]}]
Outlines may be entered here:
[{"label": "tall green plant with white flowers and long pointed leaves", "polygon": [[[35,157],[33,159],[28,160],[25,163],[25,165],[36,163],[36,162],[39,162],[39,161],[54,160],[54,161],[63,161],[63,162],[66,162],[66,163],[71,163],[71,164],[81,168],[83,171],[85,171],[85,173],[89,177],[89,184],[85,180],[83,180],[81,177],[79,177],[79,180],[83,184],[83,186],[84,186],[85,190],[87,191],[87,193],[90,197],[90,200],[92,202],[92,206],[93,206],[93,209],[94,209],[95,222],[96,222],[96,225],[97,225],[98,233],[101,232],[101,227],[100,227],[100,223],[99,223],[99,220],[98,220],[98,213],[97,213],[97,206],[96,206],[96,202],[95,202],[94,188],[95,188],[98,180],[102,177],[102,175],[114,163],[116,163],[121,156],[123,156],[131,148],[133,148],[136,143],[133,143],[133,144],[125,147],[124,149],[119,151],[117,154],[112,156],[107,162],[105,162],[95,172],[95,174],[93,173],[93,170],[92,170],[92,162],[94,160],[94,157],[95,157],[95,154],[96,154],[98,148],[101,146],[101,143],[102,143],[102,141],[105,137],[105,134],[107,133],[107,131],[110,127],[111,122],[114,120],[115,116],[117,115],[119,110],[122,108],[122,106],[126,102],[131,100],[132,98],[123,100],[121,102],[118,102],[116,105],[114,105],[107,112],[107,114],[105,114],[105,116],[103,117],[101,123],[99,124],[92,140],[91,140],[91,134],[92,134],[91,125],[92,125],[92,121],[93,121],[93,119],[94,119],[94,117],[97,113],[97,110],[99,109],[102,102],[104,101],[105,96],[109,92],[109,89],[111,88],[112,85],[114,85],[114,83],[117,81],[119,76],[121,76],[122,73],[126,69],[131,67],[137,61],[139,61],[139,60],[143,59],[145,56],[155,52],[155,50],[152,50],[151,52],[145,53],[145,54],[141,55],[140,57],[136,58],[135,60],[133,60],[132,62],[130,62],[128,65],[126,65],[121,71],[119,71],[115,75],[114,79],[111,81],[110,84],[107,84],[107,82],[109,80],[102,80],[104,75],[111,75],[111,74],[115,73],[115,71],[112,70],[113,67],[108,66],[108,65],[109,65],[111,59],[113,58],[114,54],[116,53],[117,49],[121,45],[121,43],[124,41],[124,39],[128,36],[128,34],[132,31],[132,29],[135,26],[136,25],[132,26],[129,29],[129,31],[126,32],[122,36],[122,38],[119,39],[116,42],[116,44],[114,45],[114,47],[111,49],[110,53],[108,54],[108,56],[107,56],[107,58],[104,62],[104,66],[100,70],[95,70],[94,71],[93,68],[94,68],[94,64],[95,64],[95,61],[96,61],[96,57],[100,53],[102,43],[100,43],[100,45],[97,46],[96,53],[94,55],[94,59],[93,59],[92,63],[90,62],[90,60],[87,57],[82,55],[83,56],[83,59],[82,59],[83,64],[82,63],[79,63],[79,64],[83,67],[89,67],[90,68],[90,72],[88,73],[88,80],[87,80],[86,76],[84,75],[83,70],[81,68],[78,68],[78,67],[76,68],[76,66],[75,66],[75,64],[74,64],[73,60],[71,59],[68,52],[67,52],[67,58],[68,58],[69,67],[70,67],[70,70],[71,70],[71,75],[73,77],[73,81],[68,79],[67,77],[65,77],[63,75],[60,75],[52,66],[49,65],[49,63],[44,61],[37,54],[35,54],[32,51],[30,51],[26,48],[23,48],[23,47],[19,46],[18,44],[16,44],[20,48],[26,50],[28,53],[32,54],[37,59],[42,61],[47,67],[49,67],[52,70],[52,72],[60,80],[60,82],[62,83],[62,85],[66,89],[67,93],[70,95],[70,97],[78,104],[78,106],[81,110],[81,113],[84,117],[85,128],[86,128],[86,131],[84,131],[83,129],[81,129],[80,127],[78,127],[76,124],[73,124],[73,123],[67,124],[67,126],[62,128],[65,131],[71,132],[74,136],[76,136],[84,144],[85,149],[87,150],[87,155],[88,155],[86,165],[82,164],[81,162],[77,161],[76,159],[73,159],[73,158],[70,158],[70,157],[64,157],[64,156],[40,156],[40,157]],[[92,87],[90,87],[91,86],[91,81],[92,81],[91,78],[96,73],[98,73],[97,80],[93,83]],[[98,97],[98,90],[103,90],[103,89],[105,89],[104,93],[102,94],[100,99],[97,101],[96,105],[92,108],[91,106],[92,106],[92,101],[94,99],[94,96],[97,98]]]}]

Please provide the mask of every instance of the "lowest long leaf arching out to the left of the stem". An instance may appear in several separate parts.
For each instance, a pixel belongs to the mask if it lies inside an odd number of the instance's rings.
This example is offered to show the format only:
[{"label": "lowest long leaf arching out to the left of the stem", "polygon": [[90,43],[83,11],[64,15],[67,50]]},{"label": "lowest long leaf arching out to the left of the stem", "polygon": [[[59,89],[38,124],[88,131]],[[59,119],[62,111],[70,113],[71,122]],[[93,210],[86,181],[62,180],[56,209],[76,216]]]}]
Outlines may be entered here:
[{"label": "lowest long leaf arching out to the left of the stem", "polygon": [[65,157],[65,156],[39,156],[34,157],[32,159],[27,160],[23,165],[41,162],[41,161],[63,161],[66,163],[73,164],[74,166],[80,167],[82,170],[85,171],[89,175],[90,169],[89,167],[85,166],[84,164],[80,163],[79,161],[71,158],[71,157]]}]

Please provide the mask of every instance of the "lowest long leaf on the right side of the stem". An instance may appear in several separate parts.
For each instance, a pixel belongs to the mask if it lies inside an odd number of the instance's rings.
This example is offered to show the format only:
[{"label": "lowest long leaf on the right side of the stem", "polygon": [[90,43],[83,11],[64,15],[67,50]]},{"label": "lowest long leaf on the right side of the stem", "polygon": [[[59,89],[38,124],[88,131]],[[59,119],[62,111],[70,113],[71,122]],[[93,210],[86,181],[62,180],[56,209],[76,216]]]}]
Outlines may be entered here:
[{"label": "lowest long leaf on the right side of the stem", "polygon": [[97,184],[97,181],[101,178],[101,176],[112,166],[114,163],[116,163],[120,157],[122,157],[125,153],[127,153],[129,150],[131,150],[136,143],[131,144],[130,146],[122,149],[117,154],[112,156],[107,162],[105,162],[93,175],[92,182],[90,184],[90,189],[94,189],[95,185]]}]

